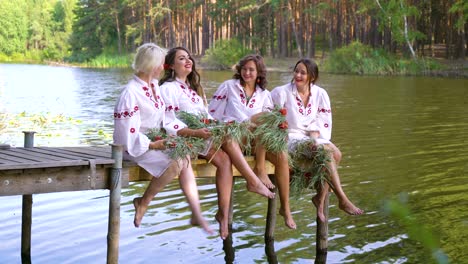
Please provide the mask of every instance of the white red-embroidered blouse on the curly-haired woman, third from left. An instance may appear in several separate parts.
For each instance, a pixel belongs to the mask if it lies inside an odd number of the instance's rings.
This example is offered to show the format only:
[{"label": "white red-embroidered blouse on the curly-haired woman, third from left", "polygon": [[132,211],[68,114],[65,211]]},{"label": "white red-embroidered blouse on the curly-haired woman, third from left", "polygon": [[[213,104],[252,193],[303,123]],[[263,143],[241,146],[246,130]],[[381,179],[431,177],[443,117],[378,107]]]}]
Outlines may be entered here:
[{"label": "white red-embroidered blouse on the curly-haired woman, third from left", "polygon": [[223,82],[214,93],[208,106],[209,113],[223,122],[243,122],[253,115],[273,109],[270,92],[259,86],[250,99],[240,84],[240,80]]}]

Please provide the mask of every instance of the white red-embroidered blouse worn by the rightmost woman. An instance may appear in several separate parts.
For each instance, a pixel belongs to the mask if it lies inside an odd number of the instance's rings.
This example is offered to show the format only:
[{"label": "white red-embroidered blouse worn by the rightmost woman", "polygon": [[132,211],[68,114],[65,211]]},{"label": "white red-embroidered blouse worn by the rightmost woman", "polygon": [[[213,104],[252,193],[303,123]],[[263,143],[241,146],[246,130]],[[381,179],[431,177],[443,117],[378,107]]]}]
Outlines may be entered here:
[{"label": "white red-embroidered blouse worn by the rightmost woman", "polygon": [[290,143],[308,139],[312,131],[320,132],[320,136],[316,139],[318,144],[330,143],[332,113],[330,98],[323,88],[311,84],[307,105],[302,102],[294,83],[274,88],[271,97],[275,105],[288,110],[286,120]]}]

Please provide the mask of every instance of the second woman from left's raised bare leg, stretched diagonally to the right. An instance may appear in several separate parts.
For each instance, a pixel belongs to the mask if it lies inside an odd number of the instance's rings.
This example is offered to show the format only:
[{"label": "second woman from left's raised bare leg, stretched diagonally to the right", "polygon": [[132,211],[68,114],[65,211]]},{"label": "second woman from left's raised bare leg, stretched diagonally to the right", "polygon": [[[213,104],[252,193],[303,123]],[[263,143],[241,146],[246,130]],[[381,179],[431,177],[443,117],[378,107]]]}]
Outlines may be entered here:
[{"label": "second woman from left's raised bare leg, stretched diagonally to the right", "polygon": [[267,198],[274,198],[275,194],[272,193],[268,188],[263,185],[260,179],[250,168],[249,164],[244,158],[239,144],[228,140],[228,143],[223,144],[223,150],[229,155],[234,166],[244,176],[247,181],[247,190],[263,195]]}]

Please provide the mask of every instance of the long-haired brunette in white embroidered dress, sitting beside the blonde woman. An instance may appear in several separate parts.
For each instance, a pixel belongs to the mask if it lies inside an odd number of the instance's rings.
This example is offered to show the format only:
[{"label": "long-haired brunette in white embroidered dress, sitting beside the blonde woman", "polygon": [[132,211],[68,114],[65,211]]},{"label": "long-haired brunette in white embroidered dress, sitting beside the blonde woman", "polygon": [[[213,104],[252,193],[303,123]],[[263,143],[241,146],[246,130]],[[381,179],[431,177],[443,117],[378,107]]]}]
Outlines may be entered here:
[{"label": "long-haired brunette in white embroidered dress, sitting beside the blonde woman", "polygon": [[[161,93],[166,103],[166,112],[175,114],[185,111],[193,114],[205,114],[213,119],[206,109],[206,98],[200,85],[200,75],[196,70],[195,61],[189,51],[176,47],[168,51],[164,63],[165,74],[160,81]],[[208,129],[190,129],[179,127],[179,135],[194,136],[207,139],[211,136]],[[229,205],[232,190],[232,164],[244,175],[249,191],[273,198],[270,192],[245,160],[238,143],[227,140],[222,148],[216,151],[210,149],[208,155],[202,157],[211,160],[216,166],[216,190],[218,192],[218,207],[216,220],[220,226],[220,236],[226,239],[229,235]],[[232,163],[231,163],[232,160]]]}]

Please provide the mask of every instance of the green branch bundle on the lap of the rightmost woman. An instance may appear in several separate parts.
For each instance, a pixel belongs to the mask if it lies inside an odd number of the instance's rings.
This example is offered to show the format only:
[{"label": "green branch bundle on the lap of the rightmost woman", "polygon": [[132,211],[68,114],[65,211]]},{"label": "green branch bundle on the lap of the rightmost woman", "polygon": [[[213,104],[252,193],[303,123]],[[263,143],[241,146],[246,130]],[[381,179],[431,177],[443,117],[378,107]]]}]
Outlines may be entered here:
[{"label": "green branch bundle on the lap of the rightmost woman", "polygon": [[327,177],[331,152],[323,145],[317,145],[314,139],[298,140],[292,144],[289,151],[290,192],[299,195],[306,189],[319,188],[325,182],[334,189]]}]

